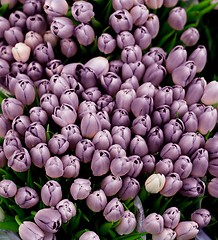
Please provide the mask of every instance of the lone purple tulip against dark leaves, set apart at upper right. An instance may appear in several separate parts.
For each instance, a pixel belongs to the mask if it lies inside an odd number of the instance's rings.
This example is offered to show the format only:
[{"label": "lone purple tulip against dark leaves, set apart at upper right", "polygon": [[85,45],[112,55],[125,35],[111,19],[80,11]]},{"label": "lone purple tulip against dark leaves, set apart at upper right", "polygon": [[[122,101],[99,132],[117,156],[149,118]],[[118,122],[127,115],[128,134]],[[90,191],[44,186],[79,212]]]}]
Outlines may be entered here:
[{"label": "lone purple tulip against dark leaves, set apart at upper right", "polygon": [[194,46],[200,38],[200,34],[196,28],[188,28],[180,36],[180,40],[188,47]]}]

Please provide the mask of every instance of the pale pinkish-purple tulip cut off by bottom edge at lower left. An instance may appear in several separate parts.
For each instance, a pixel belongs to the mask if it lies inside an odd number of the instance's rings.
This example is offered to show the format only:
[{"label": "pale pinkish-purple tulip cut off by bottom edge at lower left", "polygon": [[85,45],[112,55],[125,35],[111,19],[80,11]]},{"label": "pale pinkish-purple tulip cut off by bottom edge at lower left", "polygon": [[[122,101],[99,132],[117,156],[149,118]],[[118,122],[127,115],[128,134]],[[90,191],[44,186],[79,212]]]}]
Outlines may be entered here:
[{"label": "pale pinkish-purple tulip cut off by bottom edge at lower left", "polygon": [[43,239],[44,232],[34,223],[30,221],[24,221],[18,229],[19,235],[23,240],[31,239]]}]

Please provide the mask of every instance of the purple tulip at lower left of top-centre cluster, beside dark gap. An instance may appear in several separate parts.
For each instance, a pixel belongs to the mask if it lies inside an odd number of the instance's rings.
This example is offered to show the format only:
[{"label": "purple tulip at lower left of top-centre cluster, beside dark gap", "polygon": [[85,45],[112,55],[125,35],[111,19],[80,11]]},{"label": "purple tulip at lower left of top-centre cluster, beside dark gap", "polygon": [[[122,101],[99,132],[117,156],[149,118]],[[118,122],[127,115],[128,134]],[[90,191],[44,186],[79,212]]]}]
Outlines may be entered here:
[{"label": "purple tulip at lower left of top-centre cluster, beside dark gap", "polygon": [[116,40],[109,33],[102,33],[98,38],[98,49],[104,54],[110,54],[116,48]]}]

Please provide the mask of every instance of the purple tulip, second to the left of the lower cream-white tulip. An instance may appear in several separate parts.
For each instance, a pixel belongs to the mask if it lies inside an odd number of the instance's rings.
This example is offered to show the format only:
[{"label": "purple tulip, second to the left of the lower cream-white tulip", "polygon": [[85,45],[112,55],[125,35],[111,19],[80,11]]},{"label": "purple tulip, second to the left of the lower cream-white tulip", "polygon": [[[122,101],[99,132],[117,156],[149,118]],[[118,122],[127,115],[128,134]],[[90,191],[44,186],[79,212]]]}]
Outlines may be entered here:
[{"label": "purple tulip, second to the left of the lower cream-white tulip", "polygon": [[119,176],[108,175],[101,181],[101,189],[108,197],[114,196],[122,187],[122,179]]}]

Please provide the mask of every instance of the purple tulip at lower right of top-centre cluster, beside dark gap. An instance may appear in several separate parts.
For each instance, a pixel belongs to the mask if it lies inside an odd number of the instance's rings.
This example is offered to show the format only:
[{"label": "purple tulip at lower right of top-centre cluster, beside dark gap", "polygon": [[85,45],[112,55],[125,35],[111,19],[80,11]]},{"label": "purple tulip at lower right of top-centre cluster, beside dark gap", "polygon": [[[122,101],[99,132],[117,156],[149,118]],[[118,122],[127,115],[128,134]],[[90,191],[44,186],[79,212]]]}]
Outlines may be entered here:
[{"label": "purple tulip at lower right of top-centre cluster, beside dark gap", "polygon": [[147,49],[151,44],[151,34],[145,26],[139,26],[135,29],[134,34],[136,44],[142,49]]}]

